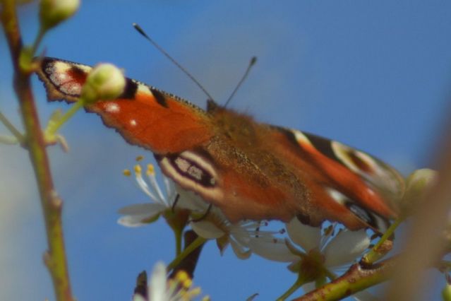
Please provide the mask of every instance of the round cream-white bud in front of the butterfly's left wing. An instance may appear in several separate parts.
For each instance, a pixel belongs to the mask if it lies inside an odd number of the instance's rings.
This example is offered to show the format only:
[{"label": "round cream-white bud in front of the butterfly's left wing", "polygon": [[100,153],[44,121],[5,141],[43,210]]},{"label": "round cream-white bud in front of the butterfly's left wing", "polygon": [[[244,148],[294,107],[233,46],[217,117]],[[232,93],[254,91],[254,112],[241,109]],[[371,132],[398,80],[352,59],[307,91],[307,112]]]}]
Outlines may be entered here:
[{"label": "round cream-white bud in front of the butterfly's left wing", "polygon": [[111,100],[124,92],[125,78],[112,64],[99,64],[90,71],[81,90],[81,98],[86,102]]}]

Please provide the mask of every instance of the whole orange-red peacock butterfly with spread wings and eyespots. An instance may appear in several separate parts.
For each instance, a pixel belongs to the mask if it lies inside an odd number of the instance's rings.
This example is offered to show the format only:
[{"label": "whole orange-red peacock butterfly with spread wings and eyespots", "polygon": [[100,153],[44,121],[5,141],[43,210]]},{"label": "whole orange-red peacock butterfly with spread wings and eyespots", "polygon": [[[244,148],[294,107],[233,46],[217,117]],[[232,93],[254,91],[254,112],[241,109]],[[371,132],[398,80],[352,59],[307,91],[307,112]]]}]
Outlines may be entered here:
[{"label": "whole orange-red peacock butterfly with spread wings and eyespots", "polygon": [[[49,100],[76,102],[91,67],[44,57],[37,75]],[[404,193],[399,173],[337,141],[256,122],[208,100],[206,110],[126,78],[115,100],[85,106],[132,145],[152,151],[162,172],[232,222],[297,217],[384,232]]]}]

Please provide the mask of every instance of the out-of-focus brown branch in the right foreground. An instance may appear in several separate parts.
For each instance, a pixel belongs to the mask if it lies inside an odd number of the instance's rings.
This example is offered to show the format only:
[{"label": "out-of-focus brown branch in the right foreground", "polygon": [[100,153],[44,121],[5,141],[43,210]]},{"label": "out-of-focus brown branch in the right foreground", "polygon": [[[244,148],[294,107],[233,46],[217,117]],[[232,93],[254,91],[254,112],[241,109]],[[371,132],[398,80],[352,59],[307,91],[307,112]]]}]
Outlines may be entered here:
[{"label": "out-of-focus brown branch in the right foreground", "polygon": [[[445,139],[435,155],[435,166],[440,167],[438,183],[420,203],[404,246],[399,271],[387,290],[387,300],[423,300],[426,268],[439,261],[447,252],[449,242],[443,240],[443,233],[449,225],[451,212],[451,134],[450,122],[446,122]],[[425,200],[426,200],[425,199]]]}]

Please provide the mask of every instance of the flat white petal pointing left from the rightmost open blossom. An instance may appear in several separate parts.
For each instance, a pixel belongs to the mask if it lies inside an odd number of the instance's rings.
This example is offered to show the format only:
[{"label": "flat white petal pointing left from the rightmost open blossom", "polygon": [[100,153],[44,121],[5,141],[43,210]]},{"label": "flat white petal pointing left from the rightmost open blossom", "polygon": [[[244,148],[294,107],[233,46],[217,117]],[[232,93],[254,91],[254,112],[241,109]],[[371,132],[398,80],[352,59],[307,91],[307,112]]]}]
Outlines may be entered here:
[{"label": "flat white petal pointing left from the rightmost open blossom", "polygon": [[283,240],[263,240],[260,237],[253,237],[249,247],[253,253],[265,259],[281,262],[299,260],[298,256],[290,252]]}]

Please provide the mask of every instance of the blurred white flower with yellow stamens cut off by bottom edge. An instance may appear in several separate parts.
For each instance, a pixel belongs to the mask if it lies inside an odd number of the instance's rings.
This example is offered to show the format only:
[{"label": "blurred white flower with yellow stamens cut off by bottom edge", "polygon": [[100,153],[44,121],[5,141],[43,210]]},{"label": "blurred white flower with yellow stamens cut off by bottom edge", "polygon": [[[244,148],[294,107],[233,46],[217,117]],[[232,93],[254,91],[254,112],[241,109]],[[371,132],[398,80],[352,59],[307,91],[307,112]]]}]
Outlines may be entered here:
[{"label": "blurred white flower with yellow stamens cut off by bottom edge", "polygon": [[200,295],[200,288],[192,288],[193,281],[186,272],[179,271],[172,279],[167,279],[166,275],[166,266],[157,262],[150,276],[147,297],[136,293],[133,301],[188,301]]}]

